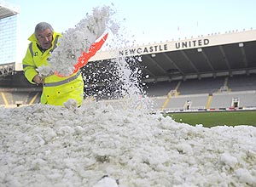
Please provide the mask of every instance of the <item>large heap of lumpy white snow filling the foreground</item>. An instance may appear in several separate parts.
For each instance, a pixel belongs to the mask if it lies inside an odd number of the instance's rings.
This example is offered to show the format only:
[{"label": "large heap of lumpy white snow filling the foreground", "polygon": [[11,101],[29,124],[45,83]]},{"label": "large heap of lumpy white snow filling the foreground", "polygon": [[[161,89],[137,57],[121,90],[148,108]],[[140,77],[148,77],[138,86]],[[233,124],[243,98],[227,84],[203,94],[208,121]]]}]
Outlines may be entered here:
[{"label": "large heap of lumpy white snow filling the foreground", "polygon": [[0,108],[0,185],[256,185],[255,127],[192,127],[125,105]]}]

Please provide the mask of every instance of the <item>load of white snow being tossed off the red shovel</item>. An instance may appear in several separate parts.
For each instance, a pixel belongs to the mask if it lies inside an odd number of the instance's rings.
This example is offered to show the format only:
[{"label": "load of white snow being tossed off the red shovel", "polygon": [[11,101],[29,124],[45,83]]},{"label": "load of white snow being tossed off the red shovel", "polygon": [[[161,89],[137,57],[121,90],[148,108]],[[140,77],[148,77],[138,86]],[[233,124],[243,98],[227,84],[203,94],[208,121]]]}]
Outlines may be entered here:
[{"label": "load of white snow being tossed off the red shovel", "polygon": [[62,76],[71,75],[79,56],[88,52],[90,45],[101,37],[107,28],[115,32],[117,27],[111,22],[112,15],[113,9],[109,6],[93,8],[91,15],[87,14],[77,26],[62,33],[60,45],[48,60],[50,68],[43,65],[38,67],[38,72],[42,76],[48,76],[55,71]]}]

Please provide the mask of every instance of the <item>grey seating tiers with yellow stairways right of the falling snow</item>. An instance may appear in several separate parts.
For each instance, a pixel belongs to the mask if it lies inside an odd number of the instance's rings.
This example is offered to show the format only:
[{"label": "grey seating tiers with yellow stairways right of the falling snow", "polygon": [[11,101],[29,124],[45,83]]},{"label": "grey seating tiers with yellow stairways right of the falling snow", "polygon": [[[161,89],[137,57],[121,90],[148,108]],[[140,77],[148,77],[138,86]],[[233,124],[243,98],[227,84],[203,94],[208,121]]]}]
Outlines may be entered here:
[{"label": "grey seating tiers with yellow stairways right of the falling snow", "polygon": [[[161,111],[207,111],[254,108],[256,104],[255,75],[205,78],[174,81],[180,86],[176,94],[171,94],[170,82],[161,82],[160,88],[148,84],[148,97],[154,100],[154,109]],[[232,81],[230,81],[232,80]],[[228,85],[228,86],[227,86]],[[172,87],[174,88],[174,86]],[[163,90],[165,92],[163,92]],[[155,95],[157,93],[158,95]],[[154,97],[157,96],[157,97]]]}]

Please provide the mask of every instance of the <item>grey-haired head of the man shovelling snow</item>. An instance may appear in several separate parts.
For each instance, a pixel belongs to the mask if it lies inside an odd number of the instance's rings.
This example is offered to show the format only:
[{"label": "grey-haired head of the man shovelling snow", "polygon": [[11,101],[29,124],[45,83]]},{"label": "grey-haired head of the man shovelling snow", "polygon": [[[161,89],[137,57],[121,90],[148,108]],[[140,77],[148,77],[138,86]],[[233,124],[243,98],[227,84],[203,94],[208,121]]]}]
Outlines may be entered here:
[{"label": "grey-haired head of the man shovelling snow", "polygon": [[46,22],[40,22],[35,27],[35,36],[38,39],[38,42],[41,48],[49,49],[51,47],[51,42],[53,40],[53,28]]}]

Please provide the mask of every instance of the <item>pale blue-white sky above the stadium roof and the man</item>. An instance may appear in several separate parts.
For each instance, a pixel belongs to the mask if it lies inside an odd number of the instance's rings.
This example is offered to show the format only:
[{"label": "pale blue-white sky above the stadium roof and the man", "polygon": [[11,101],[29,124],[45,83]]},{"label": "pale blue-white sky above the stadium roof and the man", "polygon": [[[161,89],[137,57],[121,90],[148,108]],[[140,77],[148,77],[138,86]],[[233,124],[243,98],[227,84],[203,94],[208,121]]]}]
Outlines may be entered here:
[{"label": "pale blue-white sky above the stadium roof and the man", "polygon": [[[49,22],[55,31],[66,31],[97,6],[113,3],[119,20],[135,44],[166,42],[185,37],[207,36],[225,31],[256,28],[254,0],[5,0],[20,6],[20,48],[38,22]],[[24,52],[25,53],[25,52]]]}]

